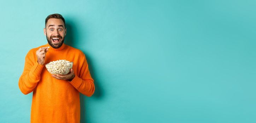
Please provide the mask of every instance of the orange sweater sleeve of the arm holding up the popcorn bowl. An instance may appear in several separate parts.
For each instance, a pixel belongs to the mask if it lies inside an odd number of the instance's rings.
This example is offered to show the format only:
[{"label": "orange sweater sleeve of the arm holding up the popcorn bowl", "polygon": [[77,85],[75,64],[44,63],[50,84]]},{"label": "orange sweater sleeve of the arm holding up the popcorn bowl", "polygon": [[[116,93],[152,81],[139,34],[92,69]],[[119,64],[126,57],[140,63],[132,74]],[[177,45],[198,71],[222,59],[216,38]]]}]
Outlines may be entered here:
[{"label": "orange sweater sleeve of the arm holding up the popcorn bowl", "polygon": [[80,71],[75,72],[77,75],[70,81],[70,84],[83,95],[91,97],[95,91],[95,86],[84,54],[80,61],[82,62],[81,69]]}]

